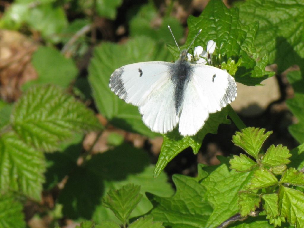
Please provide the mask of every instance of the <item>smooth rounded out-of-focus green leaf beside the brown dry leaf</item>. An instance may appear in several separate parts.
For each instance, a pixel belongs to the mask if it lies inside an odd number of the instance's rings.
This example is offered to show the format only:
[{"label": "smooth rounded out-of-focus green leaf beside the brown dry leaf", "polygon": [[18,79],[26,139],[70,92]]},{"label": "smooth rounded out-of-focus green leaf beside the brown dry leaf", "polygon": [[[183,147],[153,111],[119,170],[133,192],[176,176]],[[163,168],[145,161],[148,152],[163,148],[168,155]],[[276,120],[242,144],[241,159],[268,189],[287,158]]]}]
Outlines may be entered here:
[{"label": "smooth rounded out-of-focus green leaf beside the brown dry leaf", "polygon": [[52,47],[40,47],[36,50],[32,56],[32,64],[39,78],[28,81],[22,86],[23,90],[37,84],[54,84],[66,88],[78,74],[78,69],[73,60],[65,58],[57,49]]}]

